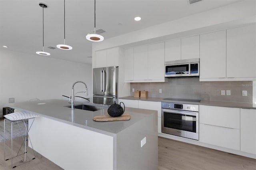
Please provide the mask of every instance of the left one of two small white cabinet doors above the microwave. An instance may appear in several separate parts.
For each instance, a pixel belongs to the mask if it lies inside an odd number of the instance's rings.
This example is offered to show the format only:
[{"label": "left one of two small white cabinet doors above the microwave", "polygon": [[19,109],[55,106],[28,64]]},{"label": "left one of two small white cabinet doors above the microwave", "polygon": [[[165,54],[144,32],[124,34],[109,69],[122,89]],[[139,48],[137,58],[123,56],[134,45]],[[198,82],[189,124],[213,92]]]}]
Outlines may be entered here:
[{"label": "left one of two small white cabinet doors above the microwave", "polygon": [[180,39],[165,42],[164,61],[180,60],[181,46]]}]

